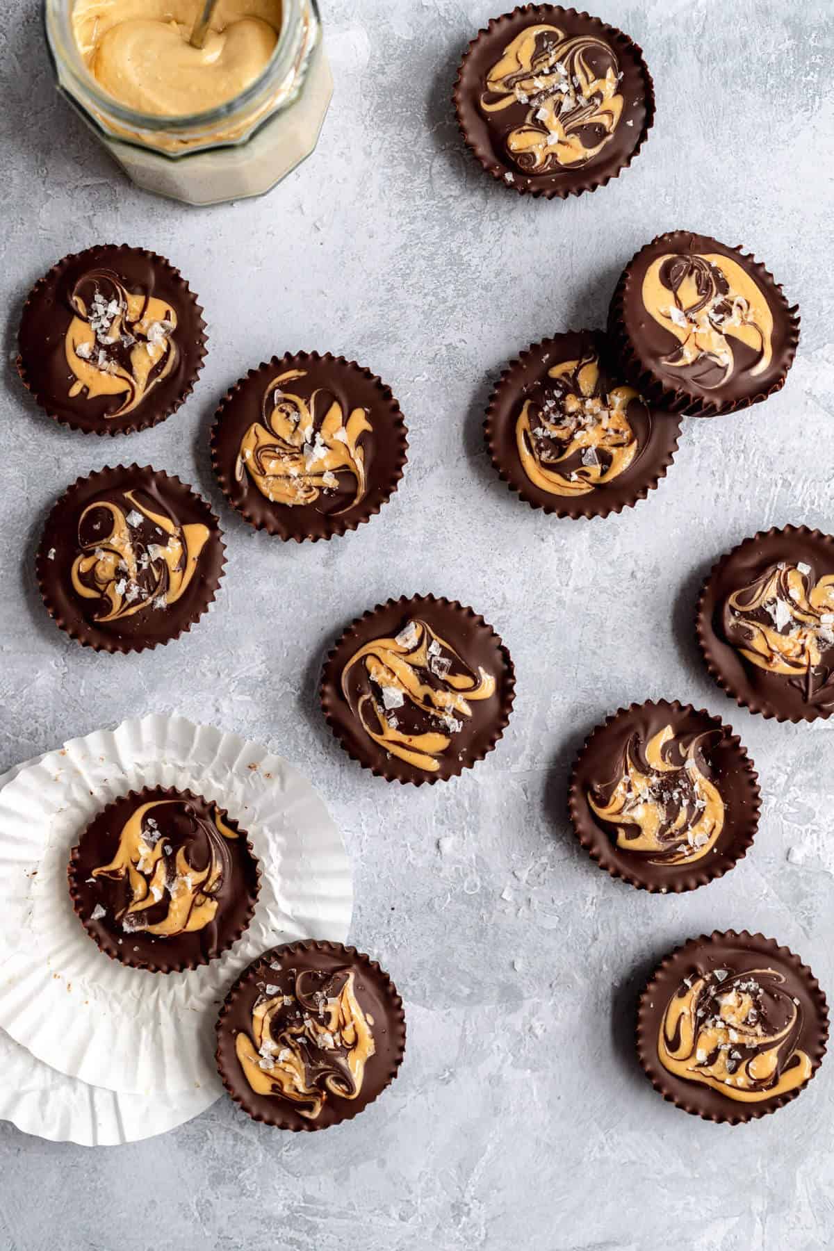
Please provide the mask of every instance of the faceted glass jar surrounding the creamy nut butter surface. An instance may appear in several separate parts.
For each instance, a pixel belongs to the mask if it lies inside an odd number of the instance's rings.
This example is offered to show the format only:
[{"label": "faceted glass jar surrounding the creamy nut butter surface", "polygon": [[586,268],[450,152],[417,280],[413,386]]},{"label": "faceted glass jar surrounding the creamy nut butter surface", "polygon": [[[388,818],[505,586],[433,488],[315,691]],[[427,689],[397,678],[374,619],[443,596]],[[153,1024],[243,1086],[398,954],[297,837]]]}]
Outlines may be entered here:
[{"label": "faceted glass jar surrounding the creamy nut butter surface", "polygon": [[315,148],[333,94],[316,0],[283,0],[273,58],[245,91],[205,113],[136,113],[99,88],[73,35],[74,0],[45,0],[61,94],[128,178],[186,204],[263,195]]}]

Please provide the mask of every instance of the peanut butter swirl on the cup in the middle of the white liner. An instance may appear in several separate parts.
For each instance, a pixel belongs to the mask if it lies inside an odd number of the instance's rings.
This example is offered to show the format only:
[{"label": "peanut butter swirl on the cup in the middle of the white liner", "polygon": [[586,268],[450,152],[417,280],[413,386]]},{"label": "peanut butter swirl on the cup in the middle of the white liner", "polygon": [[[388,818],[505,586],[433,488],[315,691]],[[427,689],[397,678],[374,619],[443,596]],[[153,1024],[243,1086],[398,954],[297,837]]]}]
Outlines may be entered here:
[{"label": "peanut butter swirl on the cup in the middle of the white liner", "polygon": [[228,842],[238,837],[216,808],[209,819],[186,801],[153,801],[131,813],[113,861],[94,868],[93,877],[128,879],[130,902],[116,913],[126,933],[173,938],[214,921],[231,874]]}]

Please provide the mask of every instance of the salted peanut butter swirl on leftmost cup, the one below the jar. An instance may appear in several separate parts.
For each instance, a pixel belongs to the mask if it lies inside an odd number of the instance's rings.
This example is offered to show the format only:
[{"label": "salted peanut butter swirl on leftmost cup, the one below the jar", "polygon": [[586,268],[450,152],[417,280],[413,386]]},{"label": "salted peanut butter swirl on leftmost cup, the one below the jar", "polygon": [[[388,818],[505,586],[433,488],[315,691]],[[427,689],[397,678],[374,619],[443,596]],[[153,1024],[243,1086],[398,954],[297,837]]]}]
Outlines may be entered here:
[{"label": "salted peanut butter swirl on leftmost cup, the one below the jar", "polygon": [[133,412],[178,362],[176,311],[131,293],[111,269],[91,269],[73,288],[64,352],[75,377],[69,395],[124,395],[109,419]]}]

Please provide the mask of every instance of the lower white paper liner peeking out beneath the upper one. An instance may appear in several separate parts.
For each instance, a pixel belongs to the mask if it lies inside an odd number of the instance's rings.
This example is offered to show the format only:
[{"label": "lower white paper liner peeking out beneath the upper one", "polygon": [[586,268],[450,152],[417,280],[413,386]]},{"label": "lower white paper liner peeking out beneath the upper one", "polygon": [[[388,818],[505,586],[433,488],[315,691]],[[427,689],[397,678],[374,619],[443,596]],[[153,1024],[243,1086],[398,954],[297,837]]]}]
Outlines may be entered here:
[{"label": "lower white paper liner peeking out beneath the upper one", "polygon": [[[0,791],[41,757],[0,774]],[[0,1121],[50,1142],[113,1147],[175,1130],[214,1103],[206,1085],[184,1095],[118,1095],[66,1077],[0,1030]]]}]

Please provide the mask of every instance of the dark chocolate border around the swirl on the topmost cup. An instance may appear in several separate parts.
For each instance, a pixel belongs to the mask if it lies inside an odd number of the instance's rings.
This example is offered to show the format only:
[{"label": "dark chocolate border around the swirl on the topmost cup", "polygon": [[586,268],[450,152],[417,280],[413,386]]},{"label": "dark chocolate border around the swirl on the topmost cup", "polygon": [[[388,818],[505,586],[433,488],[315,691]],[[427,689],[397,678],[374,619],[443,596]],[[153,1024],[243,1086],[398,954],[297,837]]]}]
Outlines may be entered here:
[{"label": "dark chocolate border around the swirl on the topmost cup", "polygon": [[[525,26],[538,23],[554,24],[565,34],[588,34],[605,40],[616,55],[623,71],[623,93],[626,98],[613,139],[581,168],[565,166],[555,174],[525,174],[498,144],[498,135],[478,108],[481,75],[499,60],[506,45]],[[628,169],[649,135],[654,123],[654,83],[643,59],[643,49],[615,26],[599,18],[561,5],[526,4],[500,18],[493,18],[471,40],[464,54],[453,103],[466,146],[488,174],[521,195],[566,199],[605,186],[621,170]],[[510,110],[515,113],[515,106]],[[525,108],[519,108],[515,124],[521,123]]]}]

